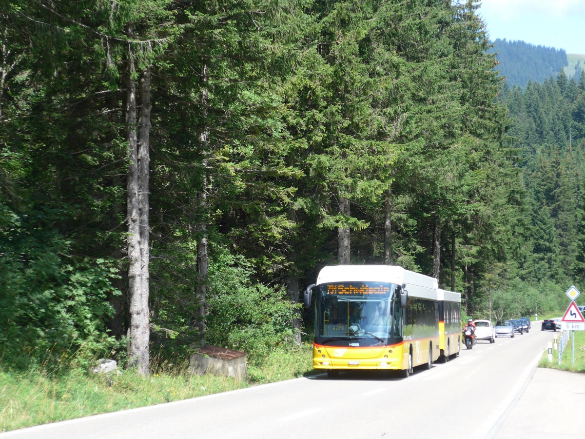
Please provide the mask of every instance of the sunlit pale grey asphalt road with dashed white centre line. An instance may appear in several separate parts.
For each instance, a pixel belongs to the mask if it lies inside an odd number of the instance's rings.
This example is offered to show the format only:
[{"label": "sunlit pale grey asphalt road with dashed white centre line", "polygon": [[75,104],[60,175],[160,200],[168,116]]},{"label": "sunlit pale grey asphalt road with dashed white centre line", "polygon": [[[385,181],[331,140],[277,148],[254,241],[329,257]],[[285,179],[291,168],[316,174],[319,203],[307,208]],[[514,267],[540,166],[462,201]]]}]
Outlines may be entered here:
[{"label": "sunlit pale grey asphalt road with dashed white centre line", "polygon": [[533,328],[514,339],[478,342],[409,378],[319,375],[26,428],[0,439],[505,439],[550,437],[549,431],[555,438],[585,437],[576,417],[585,407],[585,374],[536,370],[553,333]]}]

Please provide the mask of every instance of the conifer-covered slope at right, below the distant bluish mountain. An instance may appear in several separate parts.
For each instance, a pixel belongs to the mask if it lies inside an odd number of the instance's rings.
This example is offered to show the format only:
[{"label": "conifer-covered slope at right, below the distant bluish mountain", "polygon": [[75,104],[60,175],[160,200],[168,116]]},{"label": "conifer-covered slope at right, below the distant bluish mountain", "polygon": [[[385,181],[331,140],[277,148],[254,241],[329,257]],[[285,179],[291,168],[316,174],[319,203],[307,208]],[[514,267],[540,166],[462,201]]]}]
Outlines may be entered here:
[{"label": "conifer-covered slope at right, below the distant bluish mountain", "polygon": [[529,227],[522,277],[581,283],[583,266],[583,159],[585,78],[559,73],[526,90],[505,88],[510,142],[526,189]]}]

